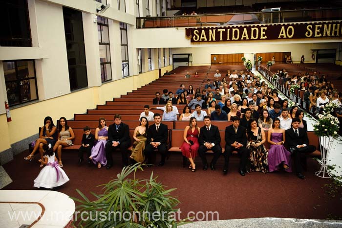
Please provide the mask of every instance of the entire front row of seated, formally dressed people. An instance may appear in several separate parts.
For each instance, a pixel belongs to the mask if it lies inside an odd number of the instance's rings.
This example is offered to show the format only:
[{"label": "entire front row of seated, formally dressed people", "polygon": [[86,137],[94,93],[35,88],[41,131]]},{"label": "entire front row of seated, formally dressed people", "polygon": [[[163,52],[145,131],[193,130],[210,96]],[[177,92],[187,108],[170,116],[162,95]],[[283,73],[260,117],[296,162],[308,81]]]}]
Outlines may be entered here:
[{"label": "entire front row of seated, formally dressed people", "polygon": [[[198,105],[196,108],[200,108]],[[168,141],[168,126],[161,123],[160,114],[153,115],[154,124],[149,126],[149,121],[146,117],[141,117],[140,125],[137,126],[133,133],[133,148],[130,152],[129,159],[131,162],[146,162],[154,164],[156,159],[155,150],[161,154],[159,166],[165,164],[167,157],[167,141]],[[280,128],[279,118],[275,118],[272,128],[268,129],[266,137],[264,129],[258,126],[255,118],[248,120],[247,127],[241,125],[238,116],[232,116],[232,125],[225,129],[225,151],[224,151],[224,167],[223,174],[228,173],[229,159],[233,151],[237,151],[240,158],[238,172],[241,176],[245,176],[249,172],[273,172],[277,170],[285,170],[292,172],[291,156],[294,157],[295,170],[300,179],[305,179],[301,173],[300,154],[313,153],[316,147],[309,145],[307,132],[304,128],[299,128],[301,123],[298,117],[294,117],[291,121],[291,127],[286,131]],[[62,136],[53,146],[53,152],[58,152],[59,166],[63,166],[61,162],[61,153],[58,148],[64,145],[69,145],[68,140],[74,137],[72,129],[67,127],[64,117],[60,119]],[[51,125],[51,126],[50,126]],[[57,132],[53,125],[51,117],[47,116],[44,119],[44,131],[41,131],[41,136],[36,141],[34,151],[25,159],[31,160],[34,157],[34,152],[39,149],[43,150],[43,146],[52,144],[53,137],[49,133],[51,129]],[[67,130],[65,130],[67,129]],[[63,133],[69,131],[70,136]],[[55,133],[52,132],[54,135]],[[44,135],[45,134],[45,135]],[[52,137],[52,138],[51,138]],[[208,168],[215,170],[215,165],[219,159],[222,148],[220,145],[221,137],[217,126],[211,123],[211,118],[208,115],[204,116],[204,126],[199,128],[195,116],[190,117],[189,125],[184,130],[184,142],[180,146],[182,154],[190,161],[189,169],[192,172],[196,171],[195,158],[199,155],[202,160],[203,170]],[[44,140],[42,140],[44,139]],[[89,127],[84,128],[82,138],[82,146],[79,149],[79,163],[83,159],[83,154],[86,152],[88,163],[93,162],[98,168],[107,165],[107,169],[113,166],[111,153],[119,148],[122,154],[122,164],[127,166],[128,147],[131,145],[129,137],[128,125],[121,121],[121,115],[114,116],[114,123],[109,127],[106,126],[106,119],[99,119],[99,126],[95,130],[95,136],[90,133]],[[268,141],[270,149],[267,150],[264,143]],[[285,140],[288,149],[284,147]],[[206,152],[210,150],[214,152],[214,157],[210,163],[206,158]],[[43,160],[43,159],[42,159]],[[40,160],[42,162],[42,160]],[[42,162],[42,164],[46,162]]]}]

